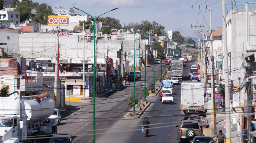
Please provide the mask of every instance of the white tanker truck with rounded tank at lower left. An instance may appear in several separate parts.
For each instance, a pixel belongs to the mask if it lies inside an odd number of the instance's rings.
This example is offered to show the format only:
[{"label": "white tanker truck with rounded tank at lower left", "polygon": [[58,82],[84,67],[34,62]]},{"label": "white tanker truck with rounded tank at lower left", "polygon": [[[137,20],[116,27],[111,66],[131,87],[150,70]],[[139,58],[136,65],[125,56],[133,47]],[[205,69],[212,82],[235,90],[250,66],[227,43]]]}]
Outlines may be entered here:
[{"label": "white tanker truck with rounded tank at lower left", "polygon": [[35,143],[36,138],[57,133],[55,102],[49,93],[0,97],[0,143]]}]

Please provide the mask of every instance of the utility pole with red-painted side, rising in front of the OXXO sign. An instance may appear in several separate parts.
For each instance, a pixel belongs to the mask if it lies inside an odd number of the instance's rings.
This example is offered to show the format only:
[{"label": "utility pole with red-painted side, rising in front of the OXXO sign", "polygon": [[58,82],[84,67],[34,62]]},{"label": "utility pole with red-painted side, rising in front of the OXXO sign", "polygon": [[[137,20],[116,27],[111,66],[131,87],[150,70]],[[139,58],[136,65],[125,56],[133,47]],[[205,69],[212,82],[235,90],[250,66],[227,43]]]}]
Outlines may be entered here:
[{"label": "utility pole with red-painted side, rising in front of the OXXO sign", "polygon": [[59,78],[59,57],[60,57],[60,11],[59,11],[59,20],[58,20],[58,29],[57,29],[57,41],[58,41],[58,54],[55,60],[55,76],[54,76],[54,102],[55,108],[57,108],[57,79]]}]

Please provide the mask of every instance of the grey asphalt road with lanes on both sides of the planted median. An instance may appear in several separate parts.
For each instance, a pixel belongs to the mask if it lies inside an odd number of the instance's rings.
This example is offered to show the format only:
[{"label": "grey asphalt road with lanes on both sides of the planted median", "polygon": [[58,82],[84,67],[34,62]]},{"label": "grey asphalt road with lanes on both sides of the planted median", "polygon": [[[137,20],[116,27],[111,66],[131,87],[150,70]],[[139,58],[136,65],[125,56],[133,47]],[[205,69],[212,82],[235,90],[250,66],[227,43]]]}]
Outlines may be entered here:
[{"label": "grey asphalt road with lanes on both sides of the planted median", "polygon": [[[183,68],[183,80],[189,80],[188,73],[191,65],[195,62],[187,62]],[[154,65],[146,67],[146,83],[154,83]],[[167,69],[167,68],[166,68]],[[165,68],[162,68],[162,72]],[[135,95],[141,100],[142,83],[144,83],[144,72],[141,72],[141,79],[136,81]],[[168,72],[170,73],[170,72]],[[160,65],[156,65],[156,79],[161,75]],[[181,82],[182,82],[181,81]],[[144,137],[141,131],[140,119],[124,119],[131,107],[127,106],[130,96],[133,96],[133,81],[130,81],[126,88],[113,91],[106,97],[96,99],[96,143],[173,143],[176,140],[177,128],[183,117],[180,115],[180,85],[174,86],[175,104],[161,104],[160,97],[147,97],[151,101],[150,107],[143,116],[148,117],[150,135]],[[73,112],[63,118],[58,125],[57,133],[65,133],[72,136],[74,143],[91,143],[92,140],[92,111],[93,104],[86,102],[70,101],[80,110]],[[172,111],[170,111],[172,110]],[[164,127],[167,126],[167,127]],[[39,141],[47,143],[46,141]]]}]

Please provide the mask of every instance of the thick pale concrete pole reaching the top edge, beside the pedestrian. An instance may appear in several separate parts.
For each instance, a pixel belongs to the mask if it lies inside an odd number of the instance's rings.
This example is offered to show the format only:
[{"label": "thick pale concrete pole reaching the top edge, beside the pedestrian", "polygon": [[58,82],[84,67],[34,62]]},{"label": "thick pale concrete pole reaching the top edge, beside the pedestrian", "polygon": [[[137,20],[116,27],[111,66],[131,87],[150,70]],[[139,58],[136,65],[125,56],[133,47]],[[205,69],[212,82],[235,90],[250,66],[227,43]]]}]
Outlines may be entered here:
[{"label": "thick pale concrete pole reaching the top edge, beside the pedestrian", "polygon": [[225,13],[225,0],[222,0],[222,20],[223,20],[223,55],[224,55],[224,73],[225,78],[225,106],[226,106],[226,143],[231,143],[231,118],[230,118],[230,94],[229,94],[229,73],[228,73],[228,44],[227,44],[227,26]]}]

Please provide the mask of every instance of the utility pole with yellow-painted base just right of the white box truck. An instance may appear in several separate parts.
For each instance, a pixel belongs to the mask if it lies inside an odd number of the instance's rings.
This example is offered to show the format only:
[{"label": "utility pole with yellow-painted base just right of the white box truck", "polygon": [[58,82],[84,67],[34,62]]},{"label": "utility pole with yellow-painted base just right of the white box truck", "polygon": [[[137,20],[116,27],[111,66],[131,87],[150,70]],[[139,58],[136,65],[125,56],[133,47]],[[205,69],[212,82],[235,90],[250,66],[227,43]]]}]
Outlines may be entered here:
[{"label": "utility pole with yellow-painted base just right of the white box truck", "polygon": [[210,48],[211,48],[211,67],[212,67],[212,75],[211,75],[211,123],[214,124],[214,135],[217,135],[217,126],[216,126],[216,105],[215,105],[215,83],[214,83],[214,57],[213,57],[213,22],[210,8]]}]

